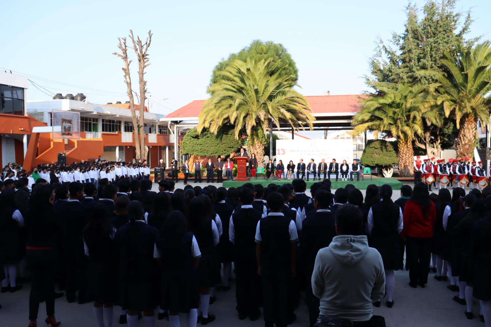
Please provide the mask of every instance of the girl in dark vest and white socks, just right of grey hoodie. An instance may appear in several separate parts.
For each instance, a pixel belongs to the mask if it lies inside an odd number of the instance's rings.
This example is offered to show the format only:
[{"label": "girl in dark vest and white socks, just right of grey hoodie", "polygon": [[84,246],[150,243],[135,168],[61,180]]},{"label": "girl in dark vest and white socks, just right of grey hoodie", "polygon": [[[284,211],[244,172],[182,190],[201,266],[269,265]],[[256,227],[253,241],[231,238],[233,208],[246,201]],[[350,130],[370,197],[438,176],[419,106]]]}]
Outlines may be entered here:
[{"label": "girl in dark vest and white socks, just right of grey hoodie", "polygon": [[[385,271],[387,286],[387,307],[394,305],[395,275],[394,270],[402,266],[399,233],[403,230],[403,215],[399,205],[392,202],[392,188],[382,185],[379,191],[381,201],[374,204],[368,212],[367,230],[370,235],[369,245],[379,250]],[[380,306],[380,301],[375,302]]]}]

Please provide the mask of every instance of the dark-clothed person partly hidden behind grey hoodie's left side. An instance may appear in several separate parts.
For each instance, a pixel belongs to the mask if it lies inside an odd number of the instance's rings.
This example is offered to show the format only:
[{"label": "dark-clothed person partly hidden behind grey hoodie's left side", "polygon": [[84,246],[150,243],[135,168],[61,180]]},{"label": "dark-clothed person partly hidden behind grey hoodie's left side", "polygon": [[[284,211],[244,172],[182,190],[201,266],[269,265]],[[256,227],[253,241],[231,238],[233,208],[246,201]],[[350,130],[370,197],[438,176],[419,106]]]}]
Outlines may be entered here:
[{"label": "dark-clothed person partly hidden behind grey hoodie's left side", "polygon": [[309,311],[310,326],[314,326],[319,316],[319,299],[312,294],[312,271],[314,269],[317,252],[329,244],[336,236],[334,215],[329,206],[332,202],[332,194],[319,190],[315,192],[315,213],[302,221],[302,233],[300,234],[300,257],[305,273],[305,300]]}]

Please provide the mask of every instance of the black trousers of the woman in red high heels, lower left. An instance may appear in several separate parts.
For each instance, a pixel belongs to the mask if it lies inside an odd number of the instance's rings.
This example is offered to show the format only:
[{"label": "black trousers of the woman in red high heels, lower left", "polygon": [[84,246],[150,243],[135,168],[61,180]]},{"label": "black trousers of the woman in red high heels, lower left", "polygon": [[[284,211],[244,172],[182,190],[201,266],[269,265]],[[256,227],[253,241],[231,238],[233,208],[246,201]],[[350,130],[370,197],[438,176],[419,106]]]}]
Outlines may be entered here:
[{"label": "black trousers of the woman in red high heels, lower left", "polygon": [[46,315],[51,316],[55,313],[56,250],[26,250],[26,258],[32,277],[29,320],[37,319],[42,300],[46,302]]}]

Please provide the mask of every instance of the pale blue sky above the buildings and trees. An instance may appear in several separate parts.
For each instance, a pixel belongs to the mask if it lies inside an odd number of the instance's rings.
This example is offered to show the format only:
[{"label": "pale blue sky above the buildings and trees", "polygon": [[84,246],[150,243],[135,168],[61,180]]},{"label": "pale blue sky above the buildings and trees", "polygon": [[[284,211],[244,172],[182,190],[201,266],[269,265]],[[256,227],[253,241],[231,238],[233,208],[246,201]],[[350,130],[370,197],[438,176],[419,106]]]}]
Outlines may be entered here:
[{"label": "pale blue sky above the buildings and trees", "polygon": [[[73,4],[72,4],[73,3]],[[404,29],[407,1],[10,1],[0,19],[0,67],[32,77],[46,93],[82,92],[93,103],[126,101],[122,61],[113,52],[129,29],[153,32],[146,79],[152,111],[171,112],[205,99],[221,58],[254,39],[283,44],[299,69],[304,95],[358,94],[378,36]],[[424,1],[416,3],[421,7]],[[468,38],[491,39],[489,0],[472,7]],[[136,90],[136,56],[132,54]],[[42,78],[42,79],[39,79]],[[49,82],[51,80],[55,82]],[[65,85],[71,84],[71,85]],[[78,85],[78,86],[72,86]],[[91,88],[86,89],[86,88]],[[49,99],[30,85],[28,100]],[[163,99],[167,99],[161,101]]]}]

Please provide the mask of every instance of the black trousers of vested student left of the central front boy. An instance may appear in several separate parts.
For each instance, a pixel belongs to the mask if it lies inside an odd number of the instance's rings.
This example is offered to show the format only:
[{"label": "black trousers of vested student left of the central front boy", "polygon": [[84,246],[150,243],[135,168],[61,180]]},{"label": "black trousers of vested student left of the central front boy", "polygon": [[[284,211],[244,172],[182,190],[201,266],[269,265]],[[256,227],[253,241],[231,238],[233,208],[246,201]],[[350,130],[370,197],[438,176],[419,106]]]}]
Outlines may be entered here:
[{"label": "black trousers of vested student left of the central front boy", "polygon": [[239,314],[256,314],[259,311],[256,257],[235,261],[237,310]]}]

